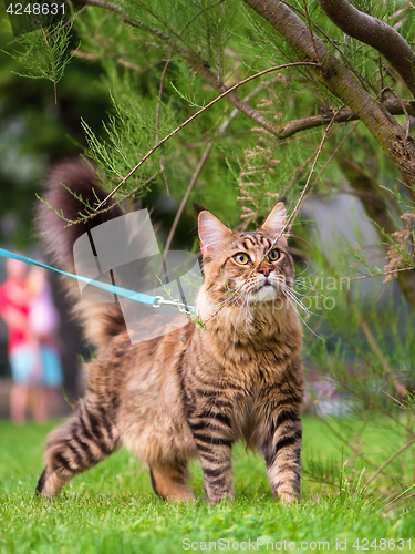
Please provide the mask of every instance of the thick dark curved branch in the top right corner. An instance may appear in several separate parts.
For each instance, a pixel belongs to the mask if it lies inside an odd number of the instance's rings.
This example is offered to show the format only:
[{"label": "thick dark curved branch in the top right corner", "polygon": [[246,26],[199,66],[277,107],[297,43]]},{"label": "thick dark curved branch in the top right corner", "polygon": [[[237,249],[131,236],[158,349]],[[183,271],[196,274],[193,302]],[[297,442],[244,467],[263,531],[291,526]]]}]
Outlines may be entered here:
[{"label": "thick dark curved branch in the top right corner", "polygon": [[339,29],[381,52],[415,95],[415,55],[409,44],[395,29],[357,10],[347,0],[318,0],[318,2]]}]

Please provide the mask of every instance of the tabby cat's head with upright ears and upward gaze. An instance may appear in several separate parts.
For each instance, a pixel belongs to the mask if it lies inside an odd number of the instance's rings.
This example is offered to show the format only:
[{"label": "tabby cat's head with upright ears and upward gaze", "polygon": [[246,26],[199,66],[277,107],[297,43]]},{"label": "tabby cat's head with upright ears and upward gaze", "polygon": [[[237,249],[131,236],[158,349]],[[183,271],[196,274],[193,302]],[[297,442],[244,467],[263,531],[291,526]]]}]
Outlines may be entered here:
[{"label": "tabby cat's head with upright ears and upward gaze", "polygon": [[227,298],[231,304],[231,296],[238,296],[240,305],[261,305],[288,297],[294,265],[287,249],[284,226],[282,202],[253,232],[231,230],[209,212],[199,214],[204,291],[209,304],[219,306]]}]

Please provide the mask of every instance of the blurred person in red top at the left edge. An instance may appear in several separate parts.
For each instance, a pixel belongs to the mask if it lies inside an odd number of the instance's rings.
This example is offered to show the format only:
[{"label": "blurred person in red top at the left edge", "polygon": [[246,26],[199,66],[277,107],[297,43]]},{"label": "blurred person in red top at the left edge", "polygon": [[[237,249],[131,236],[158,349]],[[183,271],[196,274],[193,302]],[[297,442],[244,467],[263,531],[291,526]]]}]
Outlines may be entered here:
[{"label": "blurred person in red top at the left edge", "polygon": [[37,340],[29,326],[31,296],[28,290],[27,266],[22,261],[8,259],[6,270],[8,278],[0,287],[0,315],[9,331],[8,353],[13,378],[10,416],[12,421],[23,423],[29,388],[39,381],[41,366],[37,356]]}]

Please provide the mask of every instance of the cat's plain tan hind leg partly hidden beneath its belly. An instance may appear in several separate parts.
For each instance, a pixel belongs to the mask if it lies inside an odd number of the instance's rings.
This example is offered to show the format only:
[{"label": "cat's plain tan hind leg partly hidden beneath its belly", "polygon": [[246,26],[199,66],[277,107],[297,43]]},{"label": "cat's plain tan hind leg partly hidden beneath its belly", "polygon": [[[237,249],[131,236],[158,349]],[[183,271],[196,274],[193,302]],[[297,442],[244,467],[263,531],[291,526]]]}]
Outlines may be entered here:
[{"label": "cat's plain tan hind leg partly hidden beneath its belly", "polygon": [[153,490],[162,499],[173,502],[190,502],[196,499],[186,484],[189,474],[185,462],[154,462],[149,466],[149,474]]}]

